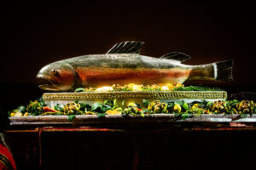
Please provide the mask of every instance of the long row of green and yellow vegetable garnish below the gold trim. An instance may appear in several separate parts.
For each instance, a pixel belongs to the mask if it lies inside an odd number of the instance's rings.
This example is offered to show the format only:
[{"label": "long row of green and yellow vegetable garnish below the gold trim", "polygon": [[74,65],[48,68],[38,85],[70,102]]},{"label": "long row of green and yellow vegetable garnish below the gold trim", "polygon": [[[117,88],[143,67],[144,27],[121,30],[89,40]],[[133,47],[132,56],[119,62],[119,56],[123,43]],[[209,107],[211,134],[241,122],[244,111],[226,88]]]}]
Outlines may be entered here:
[{"label": "long row of green and yellow vegetable garnish below the gold trim", "polygon": [[175,102],[160,102],[160,100],[149,101],[143,99],[141,105],[130,102],[125,105],[125,101],[120,105],[117,99],[107,99],[103,102],[95,102],[89,105],[83,102],[70,102],[66,105],[55,105],[49,108],[44,105],[43,101],[31,101],[29,105],[20,105],[14,111],[9,111],[9,116],[58,116],[67,115],[73,120],[74,115],[97,115],[104,117],[105,115],[133,115],[145,116],[147,114],[175,114],[177,116],[190,117],[199,116],[201,114],[247,114],[256,113],[256,104],[250,100],[218,100],[206,101],[202,100],[187,103],[183,100]]}]

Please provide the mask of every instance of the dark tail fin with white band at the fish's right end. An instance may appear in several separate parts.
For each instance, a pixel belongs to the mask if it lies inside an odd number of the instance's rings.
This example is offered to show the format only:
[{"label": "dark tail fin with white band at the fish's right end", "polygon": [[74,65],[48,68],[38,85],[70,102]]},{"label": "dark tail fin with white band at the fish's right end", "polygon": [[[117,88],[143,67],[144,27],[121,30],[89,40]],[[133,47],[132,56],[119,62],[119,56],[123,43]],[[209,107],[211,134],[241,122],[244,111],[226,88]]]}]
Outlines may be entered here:
[{"label": "dark tail fin with white band at the fish's right end", "polygon": [[234,59],[213,63],[214,78],[218,81],[232,81],[232,67]]}]

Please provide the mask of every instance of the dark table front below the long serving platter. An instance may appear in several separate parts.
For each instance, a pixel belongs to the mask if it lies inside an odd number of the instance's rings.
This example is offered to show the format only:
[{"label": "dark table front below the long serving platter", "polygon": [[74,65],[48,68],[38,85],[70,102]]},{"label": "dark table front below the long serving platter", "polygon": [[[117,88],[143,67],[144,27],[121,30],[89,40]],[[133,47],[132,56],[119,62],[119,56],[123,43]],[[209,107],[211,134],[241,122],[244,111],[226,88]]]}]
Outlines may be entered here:
[{"label": "dark table front below the long serving platter", "polygon": [[4,136],[19,169],[254,169],[256,159],[253,123],[26,126]]}]

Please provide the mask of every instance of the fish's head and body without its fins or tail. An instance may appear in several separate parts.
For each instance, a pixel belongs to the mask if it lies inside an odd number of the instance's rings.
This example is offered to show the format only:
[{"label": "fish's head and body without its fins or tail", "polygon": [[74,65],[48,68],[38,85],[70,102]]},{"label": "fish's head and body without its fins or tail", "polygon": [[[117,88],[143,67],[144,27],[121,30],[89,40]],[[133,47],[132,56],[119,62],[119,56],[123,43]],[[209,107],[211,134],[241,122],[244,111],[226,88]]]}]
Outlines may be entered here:
[{"label": "fish's head and body without its fins or tail", "polygon": [[[60,77],[55,77],[52,70],[58,71]],[[68,91],[73,87],[97,87],[113,83],[182,83],[189,77],[190,70],[188,65],[181,65],[171,59],[157,59],[139,54],[94,54],[45,65],[37,77],[46,78],[54,85],[51,88],[39,88]],[[73,77],[68,77],[67,81],[64,78],[66,75]]]}]

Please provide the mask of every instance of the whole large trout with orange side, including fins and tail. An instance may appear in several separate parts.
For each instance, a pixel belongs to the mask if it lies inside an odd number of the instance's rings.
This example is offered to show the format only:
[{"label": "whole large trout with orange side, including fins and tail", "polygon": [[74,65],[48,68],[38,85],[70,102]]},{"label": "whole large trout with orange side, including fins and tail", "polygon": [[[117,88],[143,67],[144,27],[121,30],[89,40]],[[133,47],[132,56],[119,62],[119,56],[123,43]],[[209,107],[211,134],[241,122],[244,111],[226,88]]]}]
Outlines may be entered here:
[{"label": "whole large trout with orange side, including fins and tail", "polygon": [[107,54],[90,54],[45,65],[37,78],[49,91],[69,91],[77,87],[96,87],[127,83],[183,83],[186,80],[232,80],[233,60],[207,65],[183,65],[189,55],[172,52],[160,58],[140,55],[144,42],[120,42]]}]

